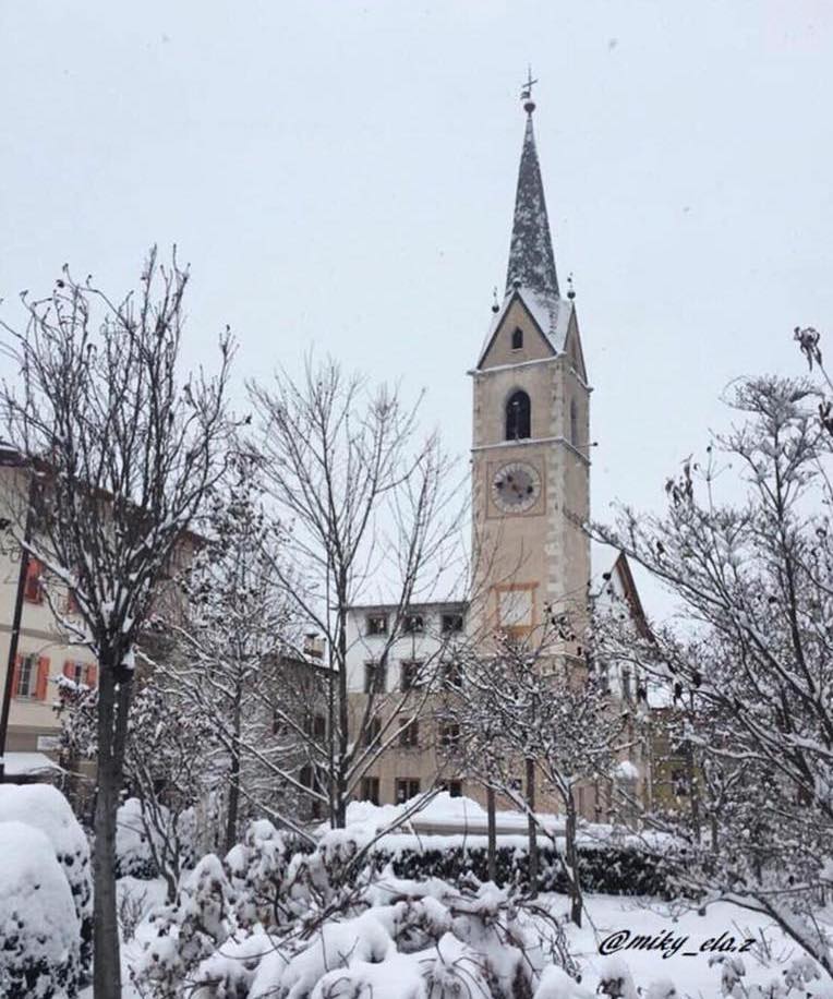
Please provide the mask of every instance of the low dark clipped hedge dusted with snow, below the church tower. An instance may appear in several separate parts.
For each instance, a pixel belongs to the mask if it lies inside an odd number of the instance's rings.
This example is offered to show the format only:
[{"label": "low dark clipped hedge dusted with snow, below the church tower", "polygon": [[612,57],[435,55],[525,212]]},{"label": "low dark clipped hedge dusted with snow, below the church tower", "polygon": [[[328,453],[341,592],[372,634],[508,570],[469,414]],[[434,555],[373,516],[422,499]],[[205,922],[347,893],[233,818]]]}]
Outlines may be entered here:
[{"label": "low dark clipped hedge dusted with snow, below the church tower", "polygon": [[[388,840],[389,842],[389,840]],[[400,878],[438,877],[456,882],[473,876],[488,878],[486,847],[461,841],[423,848],[373,848],[376,869],[388,865]],[[656,895],[672,898],[667,871],[637,845],[581,844],[578,847],[582,891],[609,895]],[[498,845],[495,856],[498,884],[526,887],[529,883],[529,851],[526,845]],[[569,884],[560,854],[548,844],[539,845],[538,887],[541,891],[568,891]]]}]

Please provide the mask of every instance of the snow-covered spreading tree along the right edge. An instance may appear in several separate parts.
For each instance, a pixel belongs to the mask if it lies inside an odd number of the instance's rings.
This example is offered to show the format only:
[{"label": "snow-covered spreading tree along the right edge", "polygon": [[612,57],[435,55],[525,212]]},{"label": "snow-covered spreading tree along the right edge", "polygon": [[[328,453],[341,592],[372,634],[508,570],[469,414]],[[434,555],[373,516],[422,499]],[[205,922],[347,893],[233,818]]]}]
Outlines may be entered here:
[{"label": "snow-covered spreading tree along the right edge", "polygon": [[[818,337],[802,349],[821,362]],[[680,881],[700,904],[768,914],[830,974],[816,907],[833,888],[829,410],[781,377],[740,382],[731,405],[740,422],[668,479],[664,514],[624,508],[594,529],[665,585],[677,618],[649,637],[614,615],[599,638],[671,688],[692,747],[699,814],[652,817],[676,833]]]}]

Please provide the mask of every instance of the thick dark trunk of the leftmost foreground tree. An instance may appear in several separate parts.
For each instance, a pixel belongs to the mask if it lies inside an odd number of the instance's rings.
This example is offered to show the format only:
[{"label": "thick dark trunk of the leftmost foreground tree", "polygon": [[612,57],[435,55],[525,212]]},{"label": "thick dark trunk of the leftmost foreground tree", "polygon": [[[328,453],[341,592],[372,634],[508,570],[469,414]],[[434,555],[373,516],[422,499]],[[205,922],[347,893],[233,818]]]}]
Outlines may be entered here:
[{"label": "thick dark trunk of the leftmost foreground tree", "polygon": [[116,816],[122,783],[130,682],[117,682],[113,657],[98,662],[98,766],[93,856],[93,995],[121,999],[121,958],[116,898]]}]

